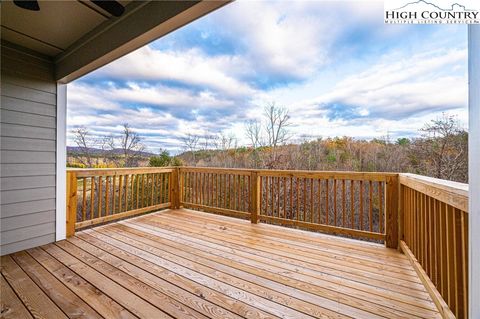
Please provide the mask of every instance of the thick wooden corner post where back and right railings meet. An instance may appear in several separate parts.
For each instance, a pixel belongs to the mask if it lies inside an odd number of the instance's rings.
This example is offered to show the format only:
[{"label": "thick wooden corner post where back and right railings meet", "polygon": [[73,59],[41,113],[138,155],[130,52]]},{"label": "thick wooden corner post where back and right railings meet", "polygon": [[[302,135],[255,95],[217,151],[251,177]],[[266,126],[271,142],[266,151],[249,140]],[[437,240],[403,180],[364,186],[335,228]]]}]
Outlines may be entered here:
[{"label": "thick wooden corner post where back and right railings meet", "polygon": [[386,227],[385,227],[385,246],[388,248],[398,249],[399,235],[399,214],[398,214],[398,175],[387,176],[385,195],[386,209]]}]

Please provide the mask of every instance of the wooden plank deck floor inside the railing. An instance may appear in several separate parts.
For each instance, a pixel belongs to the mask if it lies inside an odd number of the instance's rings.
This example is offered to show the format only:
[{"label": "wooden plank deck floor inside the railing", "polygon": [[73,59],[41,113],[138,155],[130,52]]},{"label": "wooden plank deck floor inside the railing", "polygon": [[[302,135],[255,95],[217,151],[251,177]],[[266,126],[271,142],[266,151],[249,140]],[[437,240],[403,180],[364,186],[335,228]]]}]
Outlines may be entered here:
[{"label": "wooden plank deck floor inside the railing", "polygon": [[4,318],[438,318],[381,245],[189,210],[2,257]]}]

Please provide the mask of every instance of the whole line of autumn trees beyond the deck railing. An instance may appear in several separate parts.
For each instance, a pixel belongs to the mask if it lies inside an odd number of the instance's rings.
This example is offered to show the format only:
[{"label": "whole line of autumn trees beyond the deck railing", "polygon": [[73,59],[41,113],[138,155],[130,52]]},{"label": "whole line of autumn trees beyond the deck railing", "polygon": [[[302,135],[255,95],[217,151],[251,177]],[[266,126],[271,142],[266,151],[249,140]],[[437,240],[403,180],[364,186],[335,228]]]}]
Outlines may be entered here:
[{"label": "whole line of autumn trees beyond the deck railing", "polygon": [[181,140],[183,152],[177,156],[166,150],[158,155],[146,153],[141,136],[128,124],[121,134],[101,138],[92,138],[86,128],[79,128],[73,132],[78,151],[69,154],[69,162],[82,167],[187,165],[404,172],[468,182],[468,133],[453,115],[443,114],[426,123],[418,137],[394,141],[386,136],[294,142],[291,125],[287,109],[271,103],[261,118],[245,123],[243,134],[248,146],[239,146],[236,136],[224,133],[187,134]]}]

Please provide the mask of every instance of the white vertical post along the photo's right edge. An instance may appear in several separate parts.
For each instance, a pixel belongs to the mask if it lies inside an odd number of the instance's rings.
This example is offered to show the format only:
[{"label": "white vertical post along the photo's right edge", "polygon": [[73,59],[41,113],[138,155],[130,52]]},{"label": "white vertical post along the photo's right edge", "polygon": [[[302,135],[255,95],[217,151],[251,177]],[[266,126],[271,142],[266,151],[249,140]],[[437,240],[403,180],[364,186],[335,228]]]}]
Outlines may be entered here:
[{"label": "white vertical post along the photo's right edge", "polygon": [[469,318],[480,318],[480,25],[468,27]]}]

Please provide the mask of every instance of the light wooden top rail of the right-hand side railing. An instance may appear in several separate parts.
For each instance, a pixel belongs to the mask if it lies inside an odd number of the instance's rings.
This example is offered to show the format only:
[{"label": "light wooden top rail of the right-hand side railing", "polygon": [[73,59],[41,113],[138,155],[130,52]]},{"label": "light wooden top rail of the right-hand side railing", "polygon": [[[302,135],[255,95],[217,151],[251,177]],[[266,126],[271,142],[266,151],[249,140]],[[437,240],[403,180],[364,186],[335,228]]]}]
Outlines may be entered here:
[{"label": "light wooden top rail of the right-hand side railing", "polygon": [[468,184],[422,175],[401,173],[400,184],[468,213]]}]

